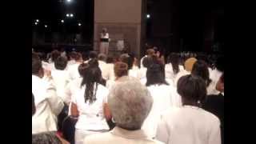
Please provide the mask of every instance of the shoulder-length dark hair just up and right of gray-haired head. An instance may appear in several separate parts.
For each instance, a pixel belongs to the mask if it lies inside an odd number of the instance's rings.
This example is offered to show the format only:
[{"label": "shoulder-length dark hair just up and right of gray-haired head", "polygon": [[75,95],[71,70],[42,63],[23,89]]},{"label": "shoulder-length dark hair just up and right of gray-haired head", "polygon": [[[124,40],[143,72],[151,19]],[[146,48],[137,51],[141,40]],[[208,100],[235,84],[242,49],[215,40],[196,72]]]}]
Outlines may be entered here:
[{"label": "shoulder-length dark hair just up and right of gray-haired head", "polygon": [[161,65],[157,63],[153,63],[146,70],[146,86],[151,86],[156,84],[169,85],[168,82],[166,82],[166,78],[162,72]]}]

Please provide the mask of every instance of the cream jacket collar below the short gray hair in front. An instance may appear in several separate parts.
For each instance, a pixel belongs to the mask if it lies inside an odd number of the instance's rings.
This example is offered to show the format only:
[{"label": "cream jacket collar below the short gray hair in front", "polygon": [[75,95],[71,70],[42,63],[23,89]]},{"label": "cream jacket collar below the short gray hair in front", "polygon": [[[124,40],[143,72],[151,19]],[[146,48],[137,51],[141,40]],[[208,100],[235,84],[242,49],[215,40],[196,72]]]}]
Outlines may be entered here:
[{"label": "cream jacket collar below the short gray hair in front", "polygon": [[128,139],[148,138],[143,130],[125,130],[118,126],[115,126],[114,129],[110,131],[110,133]]}]

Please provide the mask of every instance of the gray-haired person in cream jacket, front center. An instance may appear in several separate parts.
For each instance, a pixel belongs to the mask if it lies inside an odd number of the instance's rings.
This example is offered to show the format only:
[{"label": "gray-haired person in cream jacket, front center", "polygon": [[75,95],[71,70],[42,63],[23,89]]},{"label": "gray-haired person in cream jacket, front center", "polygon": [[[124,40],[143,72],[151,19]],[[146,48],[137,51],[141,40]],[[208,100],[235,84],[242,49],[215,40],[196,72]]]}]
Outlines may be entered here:
[{"label": "gray-haired person in cream jacket, front center", "polygon": [[135,79],[120,82],[110,90],[107,101],[116,126],[110,132],[86,137],[84,143],[162,143],[141,130],[153,103],[146,86]]}]

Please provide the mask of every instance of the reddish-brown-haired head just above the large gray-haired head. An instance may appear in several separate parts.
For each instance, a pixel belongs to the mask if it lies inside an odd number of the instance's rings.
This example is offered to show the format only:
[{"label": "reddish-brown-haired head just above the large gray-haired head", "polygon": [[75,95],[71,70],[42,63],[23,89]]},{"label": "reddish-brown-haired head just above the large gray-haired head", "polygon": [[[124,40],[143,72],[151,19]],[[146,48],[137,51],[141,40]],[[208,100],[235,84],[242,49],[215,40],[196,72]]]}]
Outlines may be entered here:
[{"label": "reddish-brown-haired head just above the large gray-haired head", "polygon": [[117,78],[128,75],[128,66],[124,62],[116,62],[114,64],[114,75]]}]

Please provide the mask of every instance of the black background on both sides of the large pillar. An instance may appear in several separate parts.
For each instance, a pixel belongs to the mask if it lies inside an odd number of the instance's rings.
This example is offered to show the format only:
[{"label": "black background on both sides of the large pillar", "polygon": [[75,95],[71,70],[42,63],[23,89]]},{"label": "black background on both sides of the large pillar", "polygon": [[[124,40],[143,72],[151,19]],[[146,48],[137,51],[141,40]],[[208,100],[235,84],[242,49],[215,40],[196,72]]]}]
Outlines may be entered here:
[{"label": "black background on both sides of the large pillar", "polygon": [[[221,0],[147,0],[146,3],[150,14],[146,21],[146,42],[166,54],[182,50],[223,51],[224,3]],[[32,7],[32,45],[72,44],[78,35],[79,44],[93,46],[94,0],[74,0],[70,5],[64,0],[33,1]],[[66,13],[73,13],[74,18],[66,18]],[[34,26],[35,19],[40,20],[38,26]],[[65,20],[64,25],[61,19]]]}]

